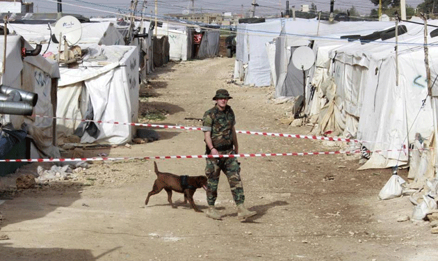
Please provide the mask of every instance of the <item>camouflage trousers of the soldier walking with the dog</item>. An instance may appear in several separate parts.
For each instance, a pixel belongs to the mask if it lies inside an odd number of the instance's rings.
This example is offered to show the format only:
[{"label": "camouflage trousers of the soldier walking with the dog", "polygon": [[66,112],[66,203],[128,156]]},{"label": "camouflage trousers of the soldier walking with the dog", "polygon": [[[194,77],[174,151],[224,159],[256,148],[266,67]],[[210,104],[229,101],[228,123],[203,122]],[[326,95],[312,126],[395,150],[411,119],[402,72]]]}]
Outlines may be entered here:
[{"label": "camouflage trousers of the soldier walking with the dog", "polygon": [[213,206],[218,198],[218,184],[220,171],[227,176],[229,188],[232,191],[233,199],[236,205],[245,201],[243,194],[243,184],[241,181],[241,166],[236,158],[212,158],[206,159],[205,175],[207,181],[207,203]]}]

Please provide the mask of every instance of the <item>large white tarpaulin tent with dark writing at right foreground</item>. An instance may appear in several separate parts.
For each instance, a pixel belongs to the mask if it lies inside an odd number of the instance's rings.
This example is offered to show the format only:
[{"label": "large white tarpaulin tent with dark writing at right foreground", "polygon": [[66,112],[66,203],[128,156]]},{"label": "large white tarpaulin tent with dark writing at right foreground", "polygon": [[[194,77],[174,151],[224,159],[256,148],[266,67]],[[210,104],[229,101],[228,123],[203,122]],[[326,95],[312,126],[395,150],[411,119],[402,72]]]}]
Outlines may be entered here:
[{"label": "large white tarpaulin tent with dark writing at right foreground", "polygon": [[[336,47],[330,52],[330,70],[321,81],[321,86],[331,88],[333,97],[318,123],[368,141],[364,143],[368,150],[384,150],[373,153],[362,168],[405,164],[415,134],[427,139],[432,133],[430,102],[426,100],[424,106],[422,102],[427,96],[423,26],[404,25],[408,33],[398,36],[403,44],[398,45],[397,59],[395,38]],[[428,37],[428,42],[437,40]],[[429,54],[433,60],[438,49],[431,46]]]}]

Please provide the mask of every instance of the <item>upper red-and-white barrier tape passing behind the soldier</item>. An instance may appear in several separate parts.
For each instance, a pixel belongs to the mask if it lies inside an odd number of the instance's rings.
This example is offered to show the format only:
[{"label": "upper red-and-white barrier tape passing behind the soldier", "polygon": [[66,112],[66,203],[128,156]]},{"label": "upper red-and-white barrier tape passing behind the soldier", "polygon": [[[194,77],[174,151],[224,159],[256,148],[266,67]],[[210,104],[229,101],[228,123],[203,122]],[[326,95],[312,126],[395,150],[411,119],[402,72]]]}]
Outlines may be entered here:
[{"label": "upper red-and-white barrier tape passing behind the soldier", "polygon": [[[33,115],[35,117],[40,118],[56,118],[61,120],[78,120],[73,118],[60,118],[60,117],[50,117],[50,116],[40,116]],[[97,123],[110,123],[115,125],[130,125],[130,126],[140,126],[140,127],[157,127],[164,129],[186,129],[186,130],[200,130],[201,127],[184,127],[184,126],[175,126],[175,125],[157,125],[157,124],[149,124],[149,123],[133,123],[133,122],[113,122],[113,121],[103,121],[103,120],[78,120],[81,122],[97,122]],[[334,138],[334,137],[325,137],[325,136],[309,136],[309,135],[300,135],[300,134],[282,134],[282,133],[273,133],[273,132],[250,132],[250,131],[241,131],[236,130],[237,133],[241,134],[252,134],[252,135],[261,135],[261,136],[279,136],[286,138],[297,138],[297,139],[313,139],[313,140],[321,140],[321,141],[344,141],[344,142],[355,142],[355,143],[375,143],[373,141],[359,141],[355,139],[343,139],[343,138]]]}]

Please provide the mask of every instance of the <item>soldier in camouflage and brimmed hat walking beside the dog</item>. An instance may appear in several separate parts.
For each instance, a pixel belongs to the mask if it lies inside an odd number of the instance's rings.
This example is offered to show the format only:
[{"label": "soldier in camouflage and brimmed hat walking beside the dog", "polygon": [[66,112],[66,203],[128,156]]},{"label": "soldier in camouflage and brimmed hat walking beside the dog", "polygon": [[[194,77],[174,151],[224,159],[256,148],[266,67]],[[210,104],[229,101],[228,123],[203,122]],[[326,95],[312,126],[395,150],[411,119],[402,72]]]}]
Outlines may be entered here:
[{"label": "soldier in camouflage and brimmed hat walking beside the dog", "polygon": [[[216,101],[216,106],[204,113],[202,118],[202,130],[204,131],[204,141],[206,144],[206,155],[233,155],[238,154],[238,143],[236,129],[236,119],[234,112],[227,102],[232,97],[225,89],[216,91],[213,100]],[[234,202],[237,205],[239,219],[246,219],[254,216],[257,212],[250,211],[245,208],[243,202],[245,195],[243,194],[243,185],[241,181],[241,167],[237,159],[234,157],[224,158],[207,158],[205,175],[208,178],[207,184],[207,203],[209,209],[206,216],[211,219],[222,219],[214,203],[218,197],[218,183],[220,171],[227,175],[229,187],[232,191]]]}]

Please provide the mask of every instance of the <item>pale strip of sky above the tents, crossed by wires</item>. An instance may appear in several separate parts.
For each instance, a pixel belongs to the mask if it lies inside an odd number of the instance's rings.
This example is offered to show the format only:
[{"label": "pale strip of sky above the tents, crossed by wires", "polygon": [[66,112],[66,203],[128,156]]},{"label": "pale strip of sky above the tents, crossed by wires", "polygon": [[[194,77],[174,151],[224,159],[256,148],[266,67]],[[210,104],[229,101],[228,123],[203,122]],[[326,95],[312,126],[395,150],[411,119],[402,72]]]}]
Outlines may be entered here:
[{"label": "pale strip of sky above the tents, crossed by wires", "polygon": [[[25,1],[25,0],[23,0]],[[26,0],[33,2],[34,13],[56,13],[57,0]],[[62,0],[63,13],[76,13],[86,17],[108,16],[115,13],[127,13],[131,0]],[[188,13],[194,5],[196,13],[247,13],[253,0],[156,0],[159,15],[167,13]],[[415,8],[423,0],[405,0],[408,6]],[[286,0],[256,0],[256,16],[279,14],[286,8]],[[330,0],[293,1],[289,0],[289,7],[295,6],[296,10],[303,4],[311,3],[321,11],[330,11]],[[137,10],[145,5],[145,13],[155,13],[155,0],[138,0]],[[347,10],[352,6],[362,15],[368,15],[371,9],[377,9],[370,0],[335,0],[334,9]]]}]

